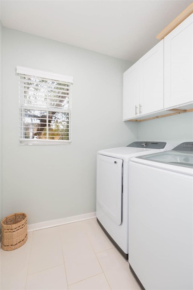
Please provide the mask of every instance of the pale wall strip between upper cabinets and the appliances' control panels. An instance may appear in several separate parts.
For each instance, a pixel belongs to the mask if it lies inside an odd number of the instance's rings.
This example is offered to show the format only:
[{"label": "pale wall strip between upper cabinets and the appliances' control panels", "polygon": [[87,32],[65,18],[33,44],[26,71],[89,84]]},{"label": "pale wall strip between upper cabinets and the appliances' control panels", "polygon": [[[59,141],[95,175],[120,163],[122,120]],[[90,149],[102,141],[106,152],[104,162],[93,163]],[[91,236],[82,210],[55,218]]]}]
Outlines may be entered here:
[{"label": "pale wall strip between upper cabinets and the appliances' control panels", "polygon": [[140,122],[139,140],[168,141],[173,146],[193,141],[193,112]]}]

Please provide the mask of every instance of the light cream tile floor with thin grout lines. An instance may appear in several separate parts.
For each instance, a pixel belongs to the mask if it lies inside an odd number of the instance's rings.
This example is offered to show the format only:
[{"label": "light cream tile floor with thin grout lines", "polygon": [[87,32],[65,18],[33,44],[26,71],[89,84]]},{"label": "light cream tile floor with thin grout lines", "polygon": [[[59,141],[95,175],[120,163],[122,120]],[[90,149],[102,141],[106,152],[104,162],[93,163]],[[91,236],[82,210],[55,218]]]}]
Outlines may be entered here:
[{"label": "light cream tile floor with thin grout lines", "polygon": [[96,218],[29,232],[0,259],[1,290],[140,290]]}]

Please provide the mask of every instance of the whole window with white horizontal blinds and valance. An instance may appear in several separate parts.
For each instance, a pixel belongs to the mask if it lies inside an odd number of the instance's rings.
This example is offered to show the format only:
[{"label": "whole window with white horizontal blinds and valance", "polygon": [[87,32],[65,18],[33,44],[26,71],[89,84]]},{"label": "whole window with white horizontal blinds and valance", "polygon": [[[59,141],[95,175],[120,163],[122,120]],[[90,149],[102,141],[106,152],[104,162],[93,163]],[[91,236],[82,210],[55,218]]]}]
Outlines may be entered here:
[{"label": "whole window with white horizontal blinds and valance", "polygon": [[72,77],[17,66],[20,144],[71,143]]}]

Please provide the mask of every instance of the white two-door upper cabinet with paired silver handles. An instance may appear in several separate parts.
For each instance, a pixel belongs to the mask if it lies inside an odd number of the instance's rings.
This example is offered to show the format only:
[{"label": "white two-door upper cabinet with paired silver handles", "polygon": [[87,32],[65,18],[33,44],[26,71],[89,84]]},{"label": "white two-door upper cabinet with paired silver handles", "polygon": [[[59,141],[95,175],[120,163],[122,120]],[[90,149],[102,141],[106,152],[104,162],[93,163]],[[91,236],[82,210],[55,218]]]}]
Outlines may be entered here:
[{"label": "white two-door upper cabinet with paired silver handles", "polygon": [[163,40],[123,74],[123,120],[163,109]]}]

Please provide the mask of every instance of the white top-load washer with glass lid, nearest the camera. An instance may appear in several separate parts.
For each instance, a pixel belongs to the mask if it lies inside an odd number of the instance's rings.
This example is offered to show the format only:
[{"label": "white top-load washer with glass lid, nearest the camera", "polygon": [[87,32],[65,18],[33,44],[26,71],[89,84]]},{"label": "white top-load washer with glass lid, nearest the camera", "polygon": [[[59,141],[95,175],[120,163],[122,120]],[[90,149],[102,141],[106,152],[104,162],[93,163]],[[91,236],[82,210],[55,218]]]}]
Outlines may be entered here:
[{"label": "white top-load washer with glass lid, nearest the camera", "polygon": [[129,163],[128,262],[142,289],[193,289],[193,142]]}]

